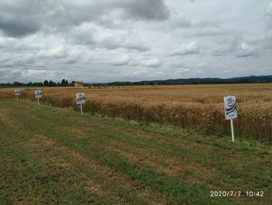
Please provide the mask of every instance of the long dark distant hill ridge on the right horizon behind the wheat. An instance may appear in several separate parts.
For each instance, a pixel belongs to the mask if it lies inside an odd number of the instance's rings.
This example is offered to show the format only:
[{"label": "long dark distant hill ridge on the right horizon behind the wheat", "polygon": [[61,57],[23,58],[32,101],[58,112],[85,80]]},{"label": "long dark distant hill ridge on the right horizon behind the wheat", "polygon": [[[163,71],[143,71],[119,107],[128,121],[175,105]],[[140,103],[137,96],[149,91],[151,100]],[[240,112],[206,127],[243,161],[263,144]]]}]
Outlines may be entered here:
[{"label": "long dark distant hill ridge on the right horizon behind the wheat", "polygon": [[245,76],[236,78],[179,78],[168,80],[142,80],[135,84],[182,85],[182,84],[225,84],[225,83],[272,83],[270,76]]}]

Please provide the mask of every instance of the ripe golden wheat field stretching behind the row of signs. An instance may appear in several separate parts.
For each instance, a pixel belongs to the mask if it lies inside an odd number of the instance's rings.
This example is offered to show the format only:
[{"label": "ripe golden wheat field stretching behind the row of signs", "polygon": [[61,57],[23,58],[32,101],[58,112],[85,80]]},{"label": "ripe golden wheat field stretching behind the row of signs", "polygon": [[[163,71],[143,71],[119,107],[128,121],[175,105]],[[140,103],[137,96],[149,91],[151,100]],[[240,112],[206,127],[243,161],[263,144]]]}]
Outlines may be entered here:
[{"label": "ripe golden wheat field stretching behind the row of signs", "polygon": [[[234,132],[264,143],[272,141],[272,84],[159,85],[127,87],[36,87],[20,89],[19,99],[80,110],[75,94],[84,92],[84,113],[99,113],[146,122],[161,122],[203,133],[228,134],[223,98],[236,97]],[[16,99],[15,88],[0,89],[0,97]]]}]

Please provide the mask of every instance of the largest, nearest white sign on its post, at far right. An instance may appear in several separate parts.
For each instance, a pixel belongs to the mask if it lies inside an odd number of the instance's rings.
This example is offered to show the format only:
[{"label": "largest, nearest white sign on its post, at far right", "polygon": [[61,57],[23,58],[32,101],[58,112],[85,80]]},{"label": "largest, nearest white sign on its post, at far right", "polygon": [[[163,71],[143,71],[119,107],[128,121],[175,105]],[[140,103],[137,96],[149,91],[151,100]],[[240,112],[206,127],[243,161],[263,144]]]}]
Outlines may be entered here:
[{"label": "largest, nearest white sign on its post, at far right", "polygon": [[225,118],[230,120],[230,126],[232,127],[232,141],[234,141],[234,128],[233,119],[237,118],[237,107],[235,96],[224,97]]}]

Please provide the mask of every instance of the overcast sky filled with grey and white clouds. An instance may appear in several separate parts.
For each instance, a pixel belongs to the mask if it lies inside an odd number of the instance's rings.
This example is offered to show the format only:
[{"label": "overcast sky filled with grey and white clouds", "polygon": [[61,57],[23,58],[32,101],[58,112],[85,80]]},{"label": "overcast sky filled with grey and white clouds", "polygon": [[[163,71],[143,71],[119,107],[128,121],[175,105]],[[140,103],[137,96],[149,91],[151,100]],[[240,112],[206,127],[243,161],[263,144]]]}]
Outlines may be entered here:
[{"label": "overcast sky filled with grey and white clouds", "polygon": [[271,74],[272,1],[0,1],[0,83]]}]

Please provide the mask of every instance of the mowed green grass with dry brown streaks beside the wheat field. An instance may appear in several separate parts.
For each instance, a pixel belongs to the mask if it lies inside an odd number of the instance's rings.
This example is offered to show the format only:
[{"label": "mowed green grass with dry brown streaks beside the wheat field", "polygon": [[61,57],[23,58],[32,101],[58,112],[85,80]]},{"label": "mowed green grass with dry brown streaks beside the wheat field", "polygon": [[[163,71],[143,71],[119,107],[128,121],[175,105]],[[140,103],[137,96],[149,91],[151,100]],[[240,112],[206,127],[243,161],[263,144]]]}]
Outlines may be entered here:
[{"label": "mowed green grass with dry brown streaks beside the wheat field", "polygon": [[243,137],[13,99],[0,99],[0,125],[0,204],[272,202],[272,149]]}]

